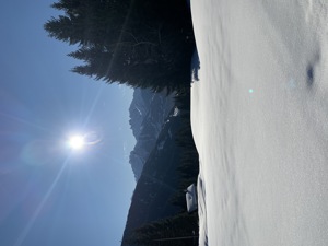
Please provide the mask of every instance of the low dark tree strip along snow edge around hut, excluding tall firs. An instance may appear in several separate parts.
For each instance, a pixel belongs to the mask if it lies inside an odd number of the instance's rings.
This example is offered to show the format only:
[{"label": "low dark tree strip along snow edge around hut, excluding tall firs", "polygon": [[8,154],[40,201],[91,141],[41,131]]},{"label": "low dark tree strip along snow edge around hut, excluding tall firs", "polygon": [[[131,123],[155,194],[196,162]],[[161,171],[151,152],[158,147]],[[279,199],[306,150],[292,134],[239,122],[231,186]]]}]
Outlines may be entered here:
[{"label": "low dark tree strip along snow edge around hut, excluding tall firs", "polygon": [[190,90],[185,90],[175,96],[175,105],[179,108],[181,124],[175,133],[179,147],[179,161],[176,168],[176,190],[168,202],[179,208],[173,216],[151,221],[132,230],[124,237],[122,246],[192,246],[198,245],[198,212],[189,214],[186,206],[185,189],[197,184],[199,173],[199,156],[194,142],[190,126]]}]

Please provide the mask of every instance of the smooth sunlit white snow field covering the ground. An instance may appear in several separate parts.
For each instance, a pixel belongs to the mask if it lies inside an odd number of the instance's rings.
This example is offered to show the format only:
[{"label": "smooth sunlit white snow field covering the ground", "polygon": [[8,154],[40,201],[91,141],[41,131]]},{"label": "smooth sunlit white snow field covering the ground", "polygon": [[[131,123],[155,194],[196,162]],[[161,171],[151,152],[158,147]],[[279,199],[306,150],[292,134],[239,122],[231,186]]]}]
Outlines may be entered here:
[{"label": "smooth sunlit white snow field covering the ground", "polygon": [[328,245],[328,1],[191,11],[200,245]]}]

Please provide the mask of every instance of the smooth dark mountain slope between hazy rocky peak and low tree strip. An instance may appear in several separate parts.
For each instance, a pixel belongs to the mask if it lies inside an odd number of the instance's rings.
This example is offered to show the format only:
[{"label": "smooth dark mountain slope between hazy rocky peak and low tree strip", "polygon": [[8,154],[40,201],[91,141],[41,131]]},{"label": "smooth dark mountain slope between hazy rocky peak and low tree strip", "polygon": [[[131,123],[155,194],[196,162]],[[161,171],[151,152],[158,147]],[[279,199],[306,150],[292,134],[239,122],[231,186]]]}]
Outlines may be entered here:
[{"label": "smooth dark mountain slope between hazy rocky peak and low tree strip", "polygon": [[181,119],[178,110],[172,108],[137,183],[122,245],[128,245],[127,241],[132,230],[179,211],[179,208],[169,201],[178,189],[177,166],[180,160],[180,148],[175,141],[175,134],[180,127]]}]

